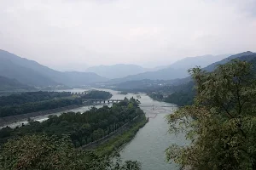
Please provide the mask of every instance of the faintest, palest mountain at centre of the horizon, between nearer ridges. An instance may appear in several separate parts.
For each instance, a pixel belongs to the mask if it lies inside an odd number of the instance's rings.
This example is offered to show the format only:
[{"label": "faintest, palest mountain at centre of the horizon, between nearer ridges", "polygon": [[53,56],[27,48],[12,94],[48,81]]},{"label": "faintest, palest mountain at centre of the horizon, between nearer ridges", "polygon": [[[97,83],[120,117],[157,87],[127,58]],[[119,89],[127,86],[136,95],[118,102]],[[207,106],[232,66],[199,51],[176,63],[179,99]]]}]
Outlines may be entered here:
[{"label": "faintest, palest mountain at centre of the horizon, between nearer ridges", "polygon": [[86,71],[95,72],[97,75],[100,75],[102,77],[108,77],[110,79],[113,79],[127,77],[129,75],[136,75],[148,71],[148,69],[145,69],[140,65],[118,64],[93,66],[88,68]]}]

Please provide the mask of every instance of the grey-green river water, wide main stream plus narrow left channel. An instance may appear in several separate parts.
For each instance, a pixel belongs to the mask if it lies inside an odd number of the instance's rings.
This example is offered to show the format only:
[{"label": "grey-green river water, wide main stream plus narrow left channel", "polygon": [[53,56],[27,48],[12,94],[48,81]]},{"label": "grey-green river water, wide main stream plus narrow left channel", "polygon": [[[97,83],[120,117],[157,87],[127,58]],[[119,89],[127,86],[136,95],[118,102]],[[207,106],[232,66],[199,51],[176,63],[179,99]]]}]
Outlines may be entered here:
[{"label": "grey-green river water, wide main stream plus narrow left channel", "polygon": [[[137,94],[119,94],[119,92],[109,89],[97,90],[108,91],[113,94],[112,99],[124,99],[134,97],[137,99]],[[90,89],[88,89],[90,90]],[[63,90],[61,90],[63,91]],[[67,90],[72,92],[84,92],[87,89],[73,89]],[[149,98],[146,94],[139,94],[141,108],[149,117],[149,122],[141,128],[136,134],[135,138],[130,143],[125,144],[125,147],[120,152],[121,158],[125,160],[137,160],[142,163],[143,170],[176,170],[179,169],[176,164],[166,162],[165,150],[171,144],[185,144],[183,134],[174,135],[168,133],[168,124],[166,122],[166,116],[172,114],[176,110],[175,105],[165,102],[159,102]],[[174,107],[172,107],[174,106]],[[72,109],[68,111],[88,111],[92,105]],[[96,107],[102,107],[102,105],[96,105]],[[61,115],[61,113],[67,111],[61,111],[52,115]],[[48,116],[34,117],[33,120],[43,122],[47,120]],[[27,123],[26,121],[15,122],[10,124],[10,127],[20,126],[21,123]]]}]

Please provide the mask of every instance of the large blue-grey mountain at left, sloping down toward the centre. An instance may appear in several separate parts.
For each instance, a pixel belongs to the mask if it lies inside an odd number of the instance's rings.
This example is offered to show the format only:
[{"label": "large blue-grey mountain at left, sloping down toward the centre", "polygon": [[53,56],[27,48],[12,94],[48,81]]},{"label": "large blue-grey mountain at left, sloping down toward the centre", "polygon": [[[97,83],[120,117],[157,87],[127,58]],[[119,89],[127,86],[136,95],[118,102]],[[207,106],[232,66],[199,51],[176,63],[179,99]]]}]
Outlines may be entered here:
[{"label": "large blue-grey mountain at left, sloping down toward the centre", "polygon": [[0,50],[0,76],[15,78],[24,84],[38,87],[61,84],[77,86],[108,80],[90,72],[55,71],[36,61],[20,58],[3,50]]}]

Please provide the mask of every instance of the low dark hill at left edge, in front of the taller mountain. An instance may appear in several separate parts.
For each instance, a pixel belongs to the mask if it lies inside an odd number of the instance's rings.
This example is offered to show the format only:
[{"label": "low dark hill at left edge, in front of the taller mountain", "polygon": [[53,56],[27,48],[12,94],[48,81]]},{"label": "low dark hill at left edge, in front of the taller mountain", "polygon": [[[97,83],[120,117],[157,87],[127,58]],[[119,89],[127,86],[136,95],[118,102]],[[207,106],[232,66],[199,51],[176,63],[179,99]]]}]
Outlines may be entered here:
[{"label": "low dark hill at left edge, in front of the taller mountain", "polygon": [[32,90],[34,88],[24,85],[15,79],[0,76],[0,92],[1,91],[22,91]]}]

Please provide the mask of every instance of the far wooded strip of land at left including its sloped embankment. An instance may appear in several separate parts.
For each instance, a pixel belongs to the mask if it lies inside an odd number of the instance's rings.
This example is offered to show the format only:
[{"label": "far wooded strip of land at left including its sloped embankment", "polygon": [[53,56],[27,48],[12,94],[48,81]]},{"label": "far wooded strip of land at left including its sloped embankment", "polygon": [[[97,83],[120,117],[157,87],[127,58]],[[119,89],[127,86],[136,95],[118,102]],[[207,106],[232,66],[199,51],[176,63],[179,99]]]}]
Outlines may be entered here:
[{"label": "far wooded strip of land at left including its sloped embankment", "polygon": [[110,99],[111,97],[112,94],[109,92],[97,90],[84,93],[39,91],[1,96],[0,125],[92,105],[93,99]]}]

